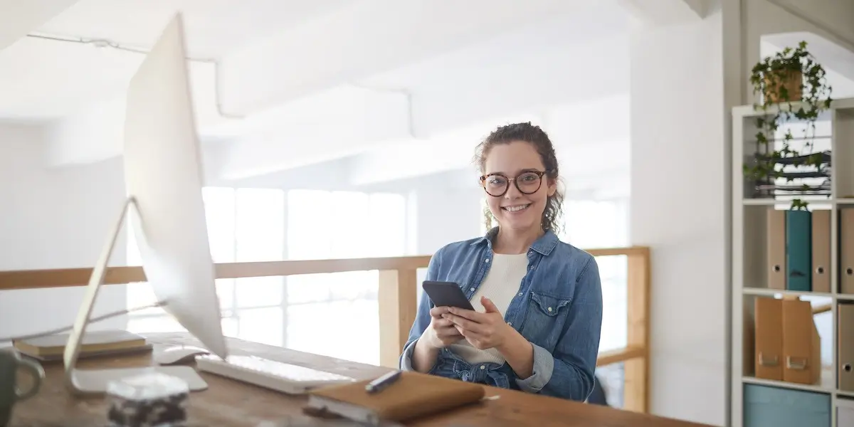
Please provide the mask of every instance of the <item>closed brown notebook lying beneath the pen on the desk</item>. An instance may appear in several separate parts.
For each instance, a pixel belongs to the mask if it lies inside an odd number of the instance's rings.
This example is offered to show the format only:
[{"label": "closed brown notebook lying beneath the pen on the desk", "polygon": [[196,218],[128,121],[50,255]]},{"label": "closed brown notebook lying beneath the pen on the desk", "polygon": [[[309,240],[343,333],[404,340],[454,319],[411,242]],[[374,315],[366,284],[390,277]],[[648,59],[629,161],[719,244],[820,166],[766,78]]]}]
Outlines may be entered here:
[{"label": "closed brown notebook lying beneath the pen on the desk", "polygon": [[307,412],[390,426],[475,403],[485,393],[480,384],[411,371],[401,372],[400,379],[376,394],[365,390],[367,383],[370,381],[311,390]]}]

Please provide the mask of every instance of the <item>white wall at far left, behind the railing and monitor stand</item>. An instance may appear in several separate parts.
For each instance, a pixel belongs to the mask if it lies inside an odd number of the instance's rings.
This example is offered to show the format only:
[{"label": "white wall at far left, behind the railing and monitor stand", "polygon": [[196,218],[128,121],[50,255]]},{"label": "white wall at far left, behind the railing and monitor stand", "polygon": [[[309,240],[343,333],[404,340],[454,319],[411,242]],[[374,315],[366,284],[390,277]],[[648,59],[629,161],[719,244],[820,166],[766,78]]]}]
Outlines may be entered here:
[{"label": "white wall at far left, behind the railing and monitor stand", "polygon": [[[45,169],[43,139],[36,127],[0,125],[0,270],[92,266],[121,208],[120,159]],[[112,265],[125,263],[124,242]],[[125,294],[124,286],[103,288],[97,313],[124,309]],[[2,291],[0,336],[71,325],[82,298],[80,288]]]}]

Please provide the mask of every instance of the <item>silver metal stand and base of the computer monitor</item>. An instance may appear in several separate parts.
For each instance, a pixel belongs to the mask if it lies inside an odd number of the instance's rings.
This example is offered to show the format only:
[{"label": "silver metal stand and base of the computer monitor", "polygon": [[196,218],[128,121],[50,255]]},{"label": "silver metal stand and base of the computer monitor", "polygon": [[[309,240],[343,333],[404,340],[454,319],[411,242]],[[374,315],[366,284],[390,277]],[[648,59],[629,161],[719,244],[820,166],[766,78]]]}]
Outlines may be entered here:
[{"label": "silver metal stand and base of the computer monitor", "polygon": [[[137,213],[137,219],[140,219],[136,209],[136,201],[133,197],[128,197],[121,208],[119,219],[116,221],[113,230],[108,236],[107,243],[104,245],[101,255],[92,269],[92,275],[89,278],[89,284],[85,288],[85,295],[83,302],[80,304],[77,319],[74,320],[73,330],[68,335],[65,354],[62,357],[65,365],[66,387],[73,395],[102,395],[107,392],[107,385],[111,381],[139,374],[161,372],[183,379],[187,382],[191,391],[208,389],[208,383],[191,366],[145,366],[85,370],[80,370],[76,367],[80,354],[80,346],[83,342],[86,326],[90,321],[92,307],[94,307],[97,299],[98,289],[104,282],[110,255],[113,253],[115,241],[119,237],[122,225],[125,223],[128,208],[130,207],[134,208],[133,210]],[[168,304],[168,301],[164,302]]]}]

